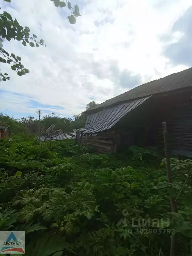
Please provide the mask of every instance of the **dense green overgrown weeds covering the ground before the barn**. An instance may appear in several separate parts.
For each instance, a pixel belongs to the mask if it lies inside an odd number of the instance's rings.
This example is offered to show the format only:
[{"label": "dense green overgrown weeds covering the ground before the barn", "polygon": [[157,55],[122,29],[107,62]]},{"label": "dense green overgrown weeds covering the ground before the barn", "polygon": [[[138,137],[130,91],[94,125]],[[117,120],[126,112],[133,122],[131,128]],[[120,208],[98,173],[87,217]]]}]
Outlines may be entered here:
[{"label": "dense green overgrown weeds covering the ground before the barn", "polygon": [[[30,256],[165,256],[173,232],[175,255],[191,255],[192,161],[171,165],[172,185],[154,149],[105,155],[71,140],[3,139],[0,230],[25,231]],[[141,219],[166,221],[143,227]]]}]

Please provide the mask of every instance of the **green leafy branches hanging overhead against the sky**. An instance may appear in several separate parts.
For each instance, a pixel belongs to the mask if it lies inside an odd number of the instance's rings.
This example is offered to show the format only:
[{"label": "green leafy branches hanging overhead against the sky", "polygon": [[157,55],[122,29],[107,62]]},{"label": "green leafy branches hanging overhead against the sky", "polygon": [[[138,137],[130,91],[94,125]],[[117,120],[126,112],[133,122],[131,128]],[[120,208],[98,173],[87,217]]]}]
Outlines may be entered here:
[{"label": "green leafy branches hanging overhead against the sky", "polygon": [[[11,0],[4,0],[6,2],[11,2]],[[71,15],[68,16],[68,20],[71,24],[76,23],[76,17],[81,16],[79,13],[79,7],[77,5],[74,8],[71,6],[69,1],[51,0],[54,2],[56,7],[65,7],[67,5],[68,9],[71,11]],[[1,9],[1,8],[0,8]],[[40,45],[46,46],[44,40],[37,40],[35,34],[30,35],[29,27],[22,27],[16,19],[13,20],[12,16],[8,12],[3,12],[0,14],[0,62],[11,63],[11,69],[17,72],[17,75],[23,76],[29,73],[29,70],[24,67],[21,63],[21,57],[16,56],[13,53],[8,53],[3,48],[3,40],[10,41],[15,39],[17,41],[22,41],[23,46],[30,45],[31,47],[39,47]],[[10,77],[7,73],[0,73],[0,81],[9,80]]]}]

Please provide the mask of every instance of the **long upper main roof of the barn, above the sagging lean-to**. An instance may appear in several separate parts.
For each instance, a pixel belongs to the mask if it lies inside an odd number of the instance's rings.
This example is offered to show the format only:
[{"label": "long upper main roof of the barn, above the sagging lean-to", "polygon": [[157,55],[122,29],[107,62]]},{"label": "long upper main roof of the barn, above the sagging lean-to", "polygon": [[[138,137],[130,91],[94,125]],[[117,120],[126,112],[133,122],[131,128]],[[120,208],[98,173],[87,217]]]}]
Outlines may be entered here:
[{"label": "long upper main roof of the barn, above the sagging lean-to", "polygon": [[[127,81],[129,84],[129,81]],[[95,112],[97,109],[103,107],[109,107],[113,104],[120,104],[123,101],[132,101],[134,99],[139,99],[147,97],[150,95],[169,92],[176,89],[186,88],[192,86],[192,68],[183,70],[178,73],[171,74],[169,76],[154,80],[140,86],[137,86],[123,94],[120,94],[112,99],[106,100],[105,102],[91,108],[85,113],[90,114]]]}]

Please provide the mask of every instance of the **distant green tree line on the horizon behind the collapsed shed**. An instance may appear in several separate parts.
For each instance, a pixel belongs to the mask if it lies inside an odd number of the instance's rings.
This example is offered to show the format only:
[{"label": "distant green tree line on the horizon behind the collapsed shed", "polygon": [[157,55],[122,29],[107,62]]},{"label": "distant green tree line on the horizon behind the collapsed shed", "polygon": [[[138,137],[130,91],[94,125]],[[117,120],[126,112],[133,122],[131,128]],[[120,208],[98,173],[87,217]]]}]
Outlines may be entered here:
[{"label": "distant green tree line on the horizon behind the collapsed shed", "polygon": [[[90,101],[86,105],[86,110],[98,105],[94,100]],[[9,135],[18,134],[31,134],[36,135],[39,132],[39,126],[41,131],[45,131],[52,124],[55,124],[56,130],[63,130],[63,132],[73,132],[74,129],[84,128],[86,123],[87,115],[81,112],[78,115],[74,115],[73,118],[55,116],[54,113],[49,115],[41,116],[39,119],[34,116],[22,117],[20,119],[10,117],[0,113],[0,122],[8,128]]]}]

